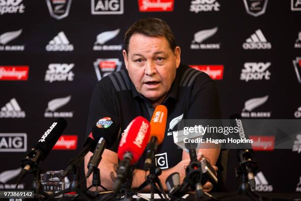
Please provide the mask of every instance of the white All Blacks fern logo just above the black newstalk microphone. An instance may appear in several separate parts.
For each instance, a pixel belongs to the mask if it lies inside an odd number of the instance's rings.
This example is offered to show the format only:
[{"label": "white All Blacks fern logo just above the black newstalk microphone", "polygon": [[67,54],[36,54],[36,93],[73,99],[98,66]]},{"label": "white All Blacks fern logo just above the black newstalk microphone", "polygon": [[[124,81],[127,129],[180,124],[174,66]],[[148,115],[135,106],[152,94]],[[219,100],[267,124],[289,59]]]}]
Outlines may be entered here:
[{"label": "white All Blacks fern logo just above the black newstalk microphone", "polygon": [[64,98],[54,99],[48,102],[48,107],[44,113],[45,118],[72,118],[73,111],[70,112],[57,112],[56,110],[64,106],[71,100],[71,96]]}]

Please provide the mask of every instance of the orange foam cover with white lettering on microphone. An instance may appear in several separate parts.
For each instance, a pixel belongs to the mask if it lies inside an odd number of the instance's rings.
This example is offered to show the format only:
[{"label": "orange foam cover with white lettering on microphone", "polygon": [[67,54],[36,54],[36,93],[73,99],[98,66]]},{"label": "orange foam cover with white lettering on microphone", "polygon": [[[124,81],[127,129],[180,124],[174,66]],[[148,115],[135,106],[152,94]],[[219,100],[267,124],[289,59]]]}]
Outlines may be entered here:
[{"label": "orange foam cover with white lettering on microphone", "polygon": [[150,138],[152,136],[157,137],[158,144],[161,144],[164,140],[166,121],[167,121],[167,108],[164,105],[156,106],[151,117]]}]

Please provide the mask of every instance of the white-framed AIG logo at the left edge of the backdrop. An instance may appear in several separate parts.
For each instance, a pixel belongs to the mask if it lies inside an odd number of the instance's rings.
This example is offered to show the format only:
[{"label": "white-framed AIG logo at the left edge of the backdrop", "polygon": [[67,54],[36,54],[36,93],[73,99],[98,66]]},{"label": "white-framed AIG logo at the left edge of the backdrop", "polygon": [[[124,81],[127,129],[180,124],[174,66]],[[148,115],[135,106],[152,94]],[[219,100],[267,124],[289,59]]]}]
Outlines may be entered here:
[{"label": "white-framed AIG logo at the left edge of the backdrop", "polygon": [[26,152],[27,134],[0,134],[0,152]]}]

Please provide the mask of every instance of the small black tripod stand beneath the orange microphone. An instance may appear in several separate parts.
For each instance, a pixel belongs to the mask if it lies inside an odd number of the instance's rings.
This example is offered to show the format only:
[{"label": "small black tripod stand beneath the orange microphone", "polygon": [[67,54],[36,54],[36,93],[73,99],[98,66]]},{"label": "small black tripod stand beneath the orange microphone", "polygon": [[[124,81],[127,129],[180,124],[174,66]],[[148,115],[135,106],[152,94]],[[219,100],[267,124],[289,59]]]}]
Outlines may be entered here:
[{"label": "small black tripod stand beneath the orange microphone", "polygon": [[[141,191],[147,185],[151,185],[151,201],[154,201],[154,193],[158,193],[161,199],[168,201],[163,185],[159,179],[159,176],[162,174],[162,169],[154,165],[155,164],[154,160],[155,157],[153,154],[151,156],[150,174],[147,176],[147,180],[138,187],[138,191]],[[163,194],[164,198],[162,197],[161,194]]]}]

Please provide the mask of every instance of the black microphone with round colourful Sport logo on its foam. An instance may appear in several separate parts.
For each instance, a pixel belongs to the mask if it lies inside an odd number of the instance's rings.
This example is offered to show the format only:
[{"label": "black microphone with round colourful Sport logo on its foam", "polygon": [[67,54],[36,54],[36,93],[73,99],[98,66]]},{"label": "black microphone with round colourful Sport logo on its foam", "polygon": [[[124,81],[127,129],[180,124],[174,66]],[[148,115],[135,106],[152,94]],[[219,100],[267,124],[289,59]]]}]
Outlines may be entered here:
[{"label": "black microphone with round colourful Sport logo on its foam", "polygon": [[92,135],[100,136],[93,155],[88,163],[87,178],[94,168],[97,168],[105,148],[110,148],[120,134],[120,121],[118,118],[104,117],[92,129]]}]

